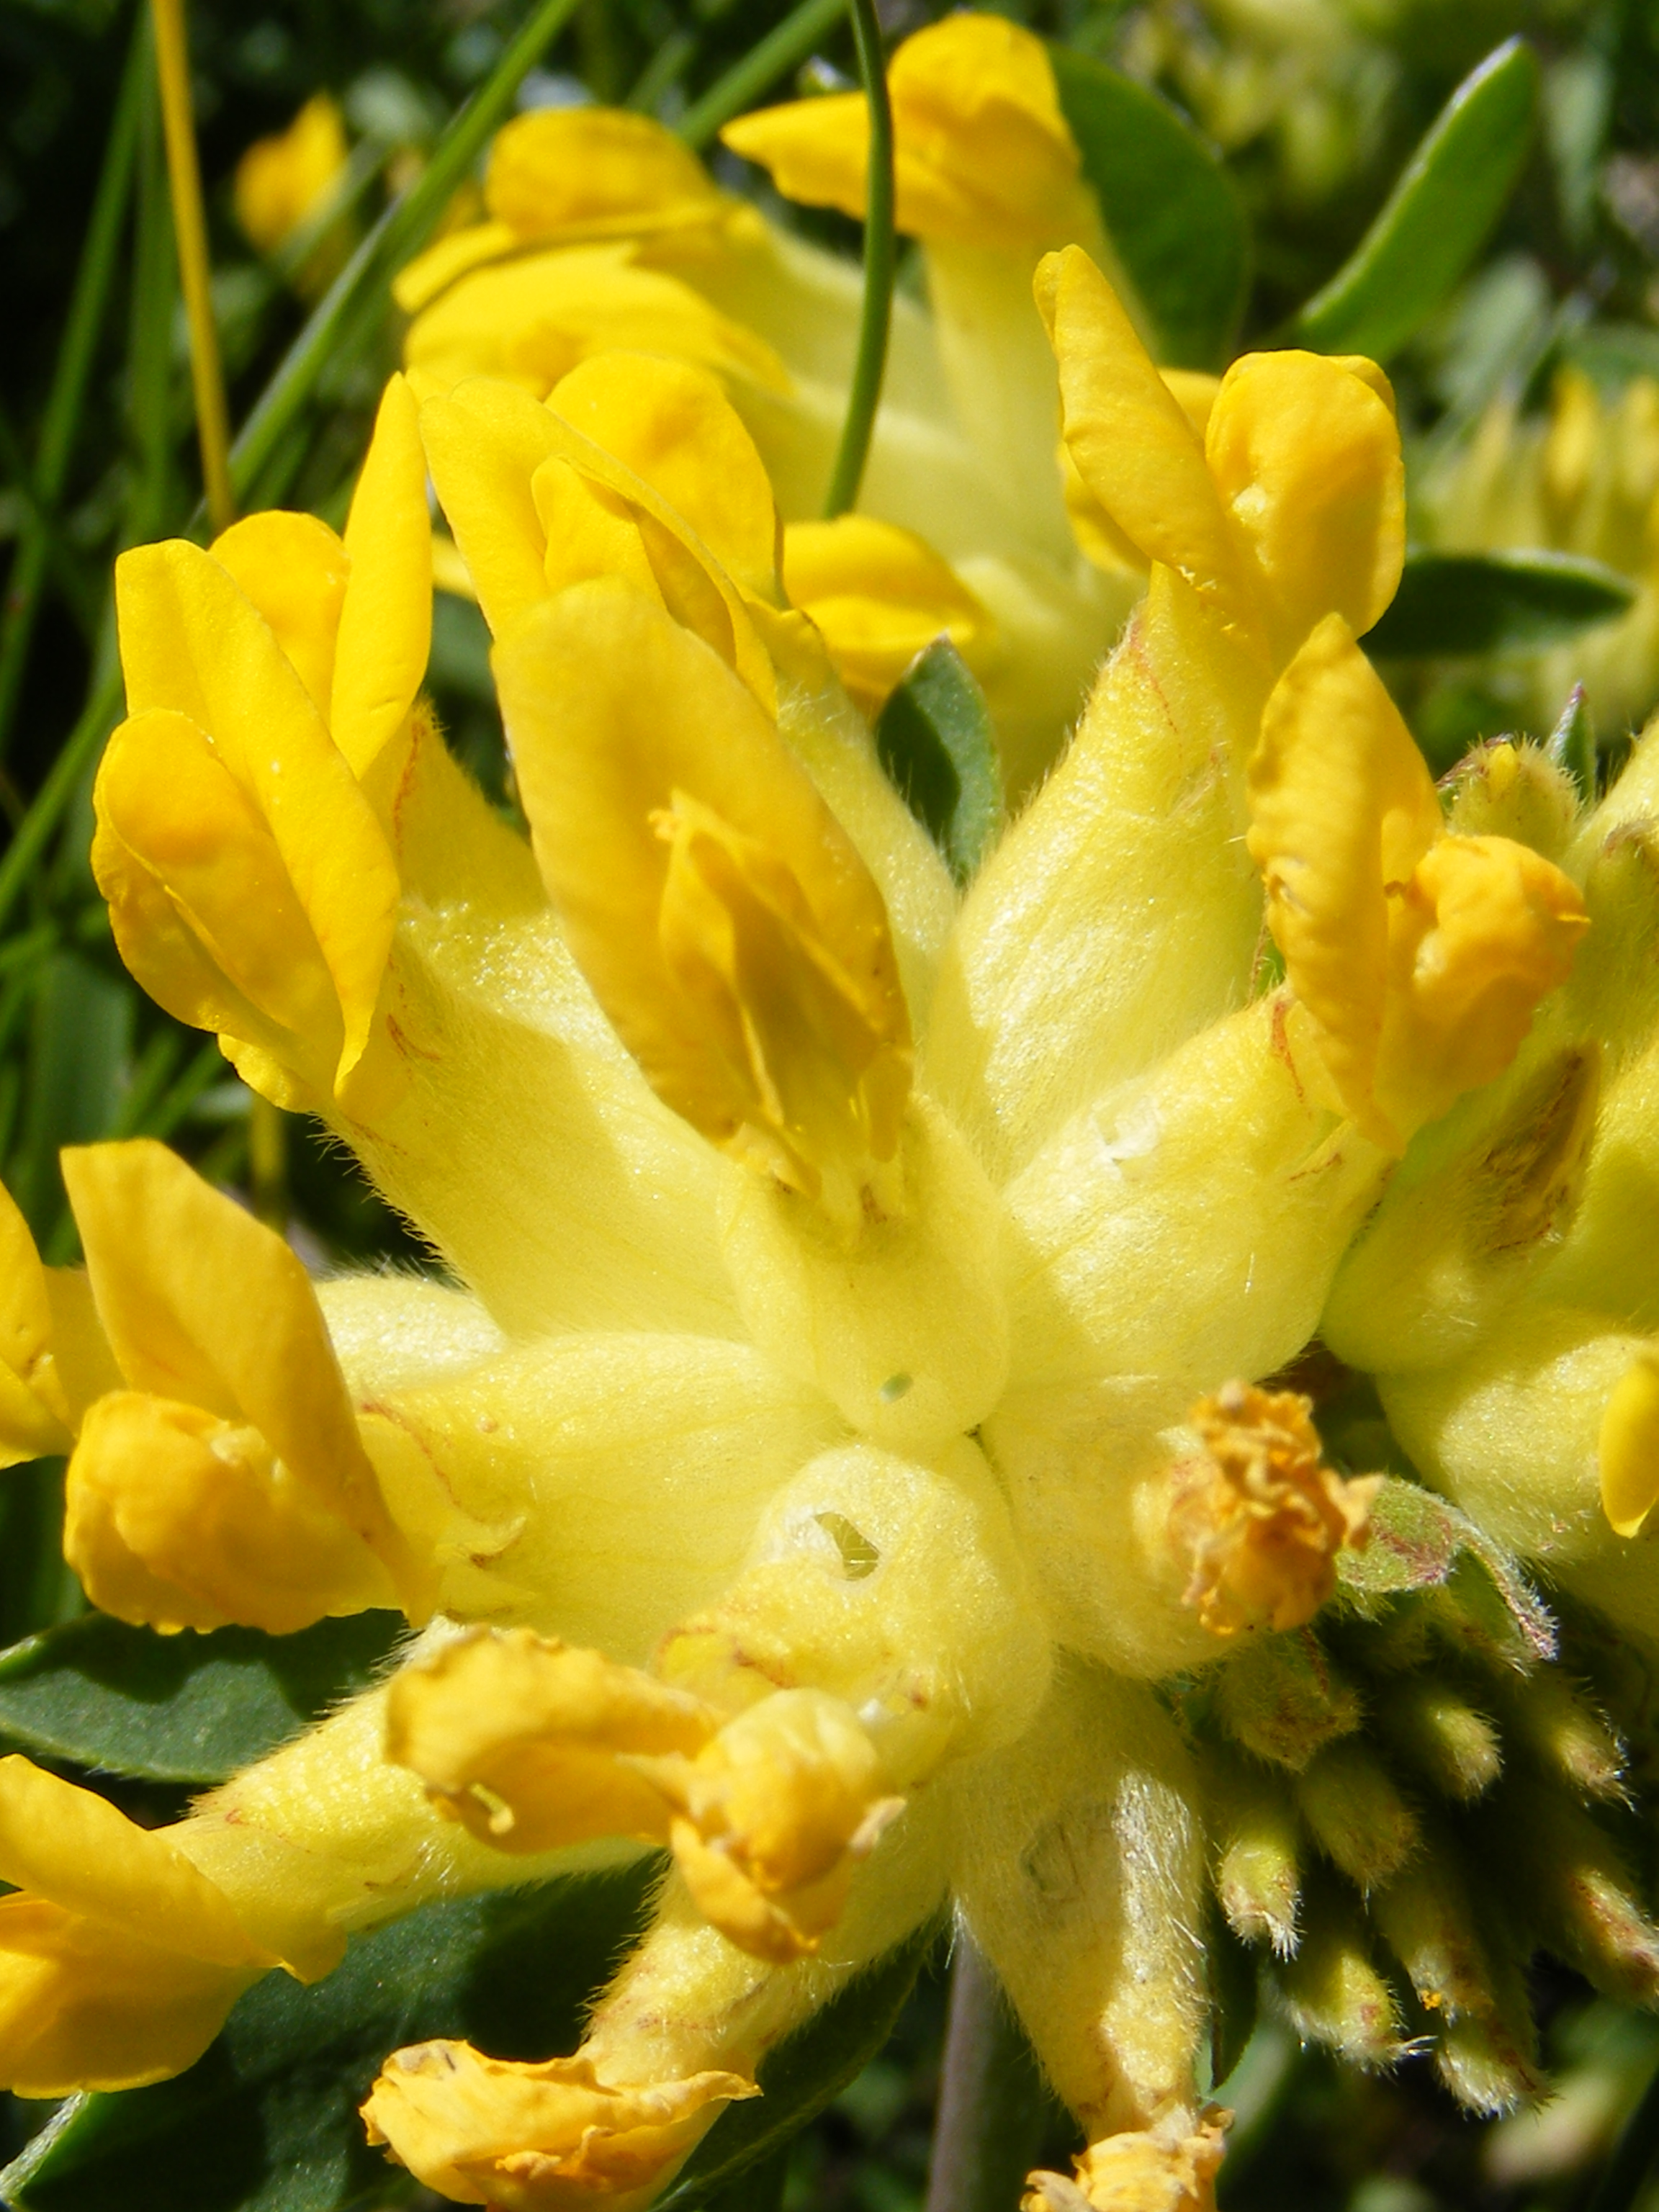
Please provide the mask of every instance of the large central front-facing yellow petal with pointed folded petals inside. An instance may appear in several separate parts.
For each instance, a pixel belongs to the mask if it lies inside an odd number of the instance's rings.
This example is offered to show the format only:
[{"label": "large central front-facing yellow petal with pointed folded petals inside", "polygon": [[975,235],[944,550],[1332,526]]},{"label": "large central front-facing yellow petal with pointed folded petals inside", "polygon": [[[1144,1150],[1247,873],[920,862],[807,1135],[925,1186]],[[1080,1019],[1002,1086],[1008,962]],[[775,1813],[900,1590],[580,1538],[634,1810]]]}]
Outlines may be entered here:
[{"label": "large central front-facing yellow petal with pointed folded petals inside", "polygon": [[863,860],[752,695],[639,591],[495,648],[542,876],[599,1004],[710,1141],[856,1221],[909,1018]]}]

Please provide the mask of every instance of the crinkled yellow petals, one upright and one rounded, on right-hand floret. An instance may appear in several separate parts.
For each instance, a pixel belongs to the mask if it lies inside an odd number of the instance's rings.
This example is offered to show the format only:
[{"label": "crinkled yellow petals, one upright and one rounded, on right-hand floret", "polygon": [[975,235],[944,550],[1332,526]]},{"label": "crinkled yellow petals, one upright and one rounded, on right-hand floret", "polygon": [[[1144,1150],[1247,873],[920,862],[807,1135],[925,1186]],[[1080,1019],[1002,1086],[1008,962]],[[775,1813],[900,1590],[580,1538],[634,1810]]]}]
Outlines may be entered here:
[{"label": "crinkled yellow petals, one upright and one rounded, on right-hand floret", "polygon": [[1391,1150],[1513,1060],[1588,927],[1577,887],[1509,838],[1442,834],[1422,754],[1340,615],[1274,688],[1248,843],[1318,1053]]}]

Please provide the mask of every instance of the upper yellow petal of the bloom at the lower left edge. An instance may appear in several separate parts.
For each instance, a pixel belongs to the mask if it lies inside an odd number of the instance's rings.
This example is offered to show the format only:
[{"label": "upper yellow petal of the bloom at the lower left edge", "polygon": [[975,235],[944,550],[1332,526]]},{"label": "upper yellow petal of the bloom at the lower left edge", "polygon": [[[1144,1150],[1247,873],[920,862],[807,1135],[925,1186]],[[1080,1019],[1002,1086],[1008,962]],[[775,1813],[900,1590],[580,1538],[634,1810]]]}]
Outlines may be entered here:
[{"label": "upper yellow petal of the bloom at the lower left edge", "polygon": [[276,1964],[166,1836],[18,1756],[0,1759],[0,1880],[184,1958]]}]

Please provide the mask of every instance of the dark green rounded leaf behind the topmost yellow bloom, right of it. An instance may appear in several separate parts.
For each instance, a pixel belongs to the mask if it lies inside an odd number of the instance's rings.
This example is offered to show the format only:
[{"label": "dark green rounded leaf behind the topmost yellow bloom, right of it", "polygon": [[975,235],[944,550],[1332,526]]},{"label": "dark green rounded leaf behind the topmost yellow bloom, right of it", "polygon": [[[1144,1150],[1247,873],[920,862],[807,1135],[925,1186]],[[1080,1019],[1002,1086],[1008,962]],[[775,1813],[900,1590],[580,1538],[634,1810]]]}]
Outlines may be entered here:
[{"label": "dark green rounded leaf behind the topmost yellow bloom, right of it", "polygon": [[1051,46],[1060,106],[1157,356],[1217,369],[1250,285],[1250,226],[1232,177],[1175,108],[1071,46]]}]

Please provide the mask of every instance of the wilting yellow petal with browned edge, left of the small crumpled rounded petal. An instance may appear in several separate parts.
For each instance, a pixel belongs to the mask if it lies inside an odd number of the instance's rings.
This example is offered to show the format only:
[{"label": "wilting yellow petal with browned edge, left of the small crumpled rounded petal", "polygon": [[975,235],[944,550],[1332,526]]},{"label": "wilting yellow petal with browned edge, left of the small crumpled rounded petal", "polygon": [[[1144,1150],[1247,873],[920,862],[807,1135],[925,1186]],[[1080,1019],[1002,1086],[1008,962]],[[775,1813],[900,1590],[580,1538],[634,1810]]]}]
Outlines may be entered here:
[{"label": "wilting yellow petal with browned edge, left of the small crumpled rounded petal", "polygon": [[699,1699],[599,1652],[476,1628],[394,1679],[387,1759],[502,1851],[666,1840],[664,1792],[619,1754],[699,1752],[714,1725]]}]

